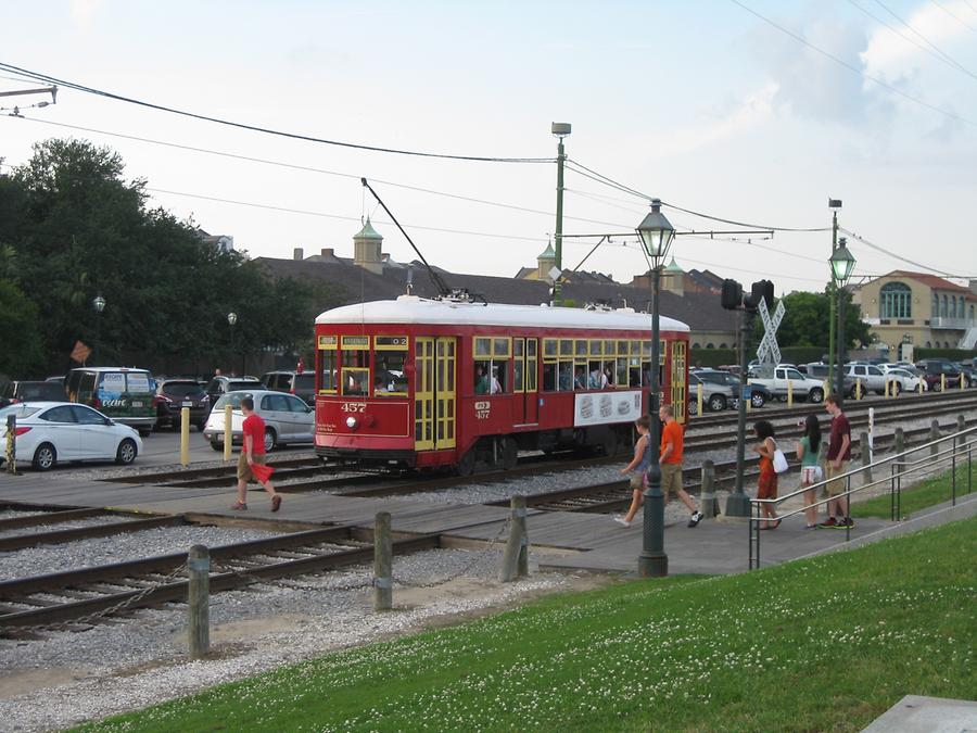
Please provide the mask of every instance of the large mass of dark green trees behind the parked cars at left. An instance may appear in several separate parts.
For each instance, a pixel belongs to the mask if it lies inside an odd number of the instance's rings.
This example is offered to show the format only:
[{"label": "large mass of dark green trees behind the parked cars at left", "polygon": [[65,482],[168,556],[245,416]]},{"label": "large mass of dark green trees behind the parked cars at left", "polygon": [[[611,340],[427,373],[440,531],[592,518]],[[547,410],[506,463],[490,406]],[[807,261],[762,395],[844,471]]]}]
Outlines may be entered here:
[{"label": "large mass of dark green trees behind the parked cars at left", "polygon": [[[124,180],[124,168],[109,148],[52,139],[0,176],[0,277],[15,276],[43,325],[31,326],[41,350],[33,368],[63,371],[76,340],[97,346],[101,363],[163,371],[230,364],[231,311],[238,355],[312,345],[321,293],[266,278],[242,254],[205,244],[191,222],[148,208],[145,182]],[[106,301],[101,315],[97,294]]]}]

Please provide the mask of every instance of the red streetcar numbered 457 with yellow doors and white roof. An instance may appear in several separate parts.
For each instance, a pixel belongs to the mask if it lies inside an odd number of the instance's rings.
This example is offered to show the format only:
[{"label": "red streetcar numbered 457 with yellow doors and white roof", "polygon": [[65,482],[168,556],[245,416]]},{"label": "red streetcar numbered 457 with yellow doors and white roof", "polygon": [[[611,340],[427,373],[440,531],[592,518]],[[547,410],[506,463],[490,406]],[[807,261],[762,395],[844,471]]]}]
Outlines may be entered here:
[{"label": "red streetcar numbered 457 with yellow doors and white roof", "polygon": [[[660,319],[665,404],[686,417],[688,326]],[[316,453],[360,466],[516,465],[519,451],[630,450],[651,317],[401,295],[316,318]]]}]

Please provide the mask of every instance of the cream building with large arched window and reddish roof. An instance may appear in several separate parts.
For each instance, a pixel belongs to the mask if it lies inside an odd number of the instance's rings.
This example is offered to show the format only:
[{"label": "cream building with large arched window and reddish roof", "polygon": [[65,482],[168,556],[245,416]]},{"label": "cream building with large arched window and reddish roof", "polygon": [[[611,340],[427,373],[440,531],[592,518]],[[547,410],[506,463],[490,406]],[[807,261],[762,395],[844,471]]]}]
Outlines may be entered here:
[{"label": "cream building with large arched window and reddish roof", "polygon": [[938,275],[896,270],[857,286],[852,300],[892,354],[903,343],[977,347],[977,281],[965,288]]}]

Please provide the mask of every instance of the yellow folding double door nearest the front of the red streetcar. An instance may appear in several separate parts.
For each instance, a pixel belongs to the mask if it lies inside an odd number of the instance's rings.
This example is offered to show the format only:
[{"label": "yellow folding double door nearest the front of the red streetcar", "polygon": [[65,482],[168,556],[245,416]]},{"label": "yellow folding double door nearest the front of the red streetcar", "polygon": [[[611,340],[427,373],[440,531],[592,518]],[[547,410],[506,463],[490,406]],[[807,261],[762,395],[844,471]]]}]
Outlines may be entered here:
[{"label": "yellow folding double door nearest the front of the red streetcar", "polygon": [[414,340],[414,447],[455,447],[457,339]]}]

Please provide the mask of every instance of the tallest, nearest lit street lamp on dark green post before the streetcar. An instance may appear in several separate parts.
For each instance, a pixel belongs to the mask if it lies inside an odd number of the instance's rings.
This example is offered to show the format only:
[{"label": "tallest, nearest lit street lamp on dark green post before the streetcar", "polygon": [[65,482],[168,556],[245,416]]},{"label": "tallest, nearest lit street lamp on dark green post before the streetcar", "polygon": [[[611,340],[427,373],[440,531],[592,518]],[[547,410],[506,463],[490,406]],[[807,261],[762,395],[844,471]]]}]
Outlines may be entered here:
[{"label": "tallest, nearest lit street lamp on dark green post before the streetcar", "polygon": [[658,464],[659,443],[659,323],[658,295],[661,285],[661,264],[675,237],[675,227],[661,213],[661,201],[651,200],[651,212],[636,229],[642,245],[651,260],[651,395],[648,413],[651,425],[648,440],[651,442],[651,463],[648,467],[648,488],[645,490],[645,526],[642,554],[638,556],[638,574],[643,578],[669,574],[669,556],[664,552],[664,494],[661,493],[661,467]]}]

